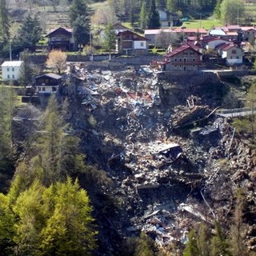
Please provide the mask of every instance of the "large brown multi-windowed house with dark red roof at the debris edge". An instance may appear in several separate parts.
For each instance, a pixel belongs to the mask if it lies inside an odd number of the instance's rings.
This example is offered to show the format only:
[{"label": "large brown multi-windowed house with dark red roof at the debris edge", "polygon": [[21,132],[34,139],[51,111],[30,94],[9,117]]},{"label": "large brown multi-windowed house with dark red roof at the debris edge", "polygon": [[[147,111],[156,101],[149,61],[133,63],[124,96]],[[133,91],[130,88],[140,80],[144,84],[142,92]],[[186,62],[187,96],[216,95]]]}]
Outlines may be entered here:
[{"label": "large brown multi-windowed house with dark red roof at the debris edge", "polygon": [[202,66],[202,54],[193,46],[180,46],[158,64],[162,71],[196,71]]}]

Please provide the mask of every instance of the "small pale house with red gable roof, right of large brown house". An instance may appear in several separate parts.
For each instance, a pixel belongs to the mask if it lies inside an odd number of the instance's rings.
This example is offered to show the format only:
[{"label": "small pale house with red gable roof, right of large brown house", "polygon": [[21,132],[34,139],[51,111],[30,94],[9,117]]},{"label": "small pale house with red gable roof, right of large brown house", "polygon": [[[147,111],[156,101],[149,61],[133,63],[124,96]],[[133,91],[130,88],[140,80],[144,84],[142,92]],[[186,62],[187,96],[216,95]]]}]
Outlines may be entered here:
[{"label": "small pale house with red gable roof, right of large brown house", "polygon": [[222,58],[226,58],[226,64],[229,66],[242,64],[244,55],[242,48],[224,43],[216,48]]}]

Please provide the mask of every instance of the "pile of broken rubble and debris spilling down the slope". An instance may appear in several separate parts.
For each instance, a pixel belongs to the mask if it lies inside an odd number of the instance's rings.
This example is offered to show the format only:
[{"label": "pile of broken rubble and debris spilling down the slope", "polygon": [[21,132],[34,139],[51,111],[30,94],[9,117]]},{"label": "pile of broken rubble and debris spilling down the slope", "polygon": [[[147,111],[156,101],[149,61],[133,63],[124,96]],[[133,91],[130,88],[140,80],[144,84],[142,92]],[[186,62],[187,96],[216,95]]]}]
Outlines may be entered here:
[{"label": "pile of broken rubble and debris spilling down the slope", "polygon": [[76,118],[95,120],[83,129],[88,160],[108,172],[116,183],[113,193],[124,198],[122,214],[111,220],[122,226],[119,234],[144,231],[160,246],[184,243],[193,222],[211,225],[214,216],[230,214],[236,186],[248,186],[254,198],[255,150],[238,141],[234,128],[214,117],[200,98],[166,107],[158,78],[145,66],[120,71],[75,66],[70,75],[81,97]]}]

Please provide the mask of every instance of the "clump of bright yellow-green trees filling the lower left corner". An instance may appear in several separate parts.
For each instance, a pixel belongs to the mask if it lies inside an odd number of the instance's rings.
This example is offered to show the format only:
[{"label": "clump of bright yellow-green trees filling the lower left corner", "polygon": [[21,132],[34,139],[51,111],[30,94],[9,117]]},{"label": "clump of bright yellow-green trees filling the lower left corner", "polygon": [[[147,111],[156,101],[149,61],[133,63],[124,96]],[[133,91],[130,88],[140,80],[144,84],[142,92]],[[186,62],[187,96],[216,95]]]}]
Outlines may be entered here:
[{"label": "clump of bright yellow-green trees filling the lower left corner", "polygon": [[48,188],[35,180],[13,195],[0,194],[0,245],[10,245],[10,255],[89,255],[96,248],[92,207],[78,180]]}]

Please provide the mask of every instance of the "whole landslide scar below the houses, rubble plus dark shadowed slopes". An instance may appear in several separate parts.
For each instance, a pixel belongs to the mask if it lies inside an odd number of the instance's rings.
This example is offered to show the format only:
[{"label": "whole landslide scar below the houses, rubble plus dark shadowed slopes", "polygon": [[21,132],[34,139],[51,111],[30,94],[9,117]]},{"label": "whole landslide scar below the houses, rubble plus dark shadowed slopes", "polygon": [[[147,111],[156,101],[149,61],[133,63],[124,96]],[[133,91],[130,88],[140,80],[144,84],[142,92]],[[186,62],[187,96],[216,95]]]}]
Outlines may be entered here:
[{"label": "whole landslide scar below the houses, rubble plus dark shadowed slopes", "polygon": [[183,89],[147,66],[69,70],[69,86],[57,94],[71,103],[69,132],[102,170],[94,184],[80,178],[94,206],[99,254],[116,253],[140,231],[164,248],[182,247],[196,222],[214,227],[217,218],[228,230],[238,187],[245,191],[246,246],[256,251],[256,155],[215,111],[227,94],[223,83]]}]

